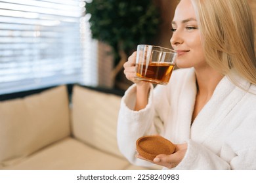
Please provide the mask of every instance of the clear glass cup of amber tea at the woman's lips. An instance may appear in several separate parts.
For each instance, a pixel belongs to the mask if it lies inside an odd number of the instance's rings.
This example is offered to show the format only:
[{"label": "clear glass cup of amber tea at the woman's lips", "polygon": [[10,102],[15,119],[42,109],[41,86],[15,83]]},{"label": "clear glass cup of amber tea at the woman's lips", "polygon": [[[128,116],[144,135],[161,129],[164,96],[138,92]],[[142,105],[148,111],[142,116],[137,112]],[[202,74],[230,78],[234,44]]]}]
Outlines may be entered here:
[{"label": "clear glass cup of amber tea at the woman's lips", "polygon": [[137,46],[136,75],[137,80],[167,85],[177,52],[161,46],[140,44]]}]

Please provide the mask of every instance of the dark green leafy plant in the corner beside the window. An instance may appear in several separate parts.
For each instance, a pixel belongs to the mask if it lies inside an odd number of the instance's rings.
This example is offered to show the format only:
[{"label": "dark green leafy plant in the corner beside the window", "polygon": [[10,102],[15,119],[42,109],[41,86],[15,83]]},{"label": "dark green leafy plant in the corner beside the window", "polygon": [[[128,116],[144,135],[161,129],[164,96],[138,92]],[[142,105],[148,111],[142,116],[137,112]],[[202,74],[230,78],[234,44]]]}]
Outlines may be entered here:
[{"label": "dark green leafy plant in the corner beside the window", "polygon": [[152,0],[93,0],[85,8],[91,14],[93,39],[112,46],[115,65],[122,65],[137,44],[148,44],[160,24],[160,12]]}]

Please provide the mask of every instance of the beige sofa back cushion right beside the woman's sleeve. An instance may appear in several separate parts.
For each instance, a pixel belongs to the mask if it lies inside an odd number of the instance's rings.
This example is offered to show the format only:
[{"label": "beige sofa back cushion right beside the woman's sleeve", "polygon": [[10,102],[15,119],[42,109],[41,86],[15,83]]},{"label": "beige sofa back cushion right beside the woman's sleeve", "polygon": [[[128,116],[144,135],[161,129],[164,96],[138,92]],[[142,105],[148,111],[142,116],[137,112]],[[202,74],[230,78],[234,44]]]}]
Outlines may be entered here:
[{"label": "beige sofa back cushion right beside the woman's sleeve", "polygon": [[117,147],[117,116],[121,97],[74,86],[72,133],[91,146],[122,157]]}]

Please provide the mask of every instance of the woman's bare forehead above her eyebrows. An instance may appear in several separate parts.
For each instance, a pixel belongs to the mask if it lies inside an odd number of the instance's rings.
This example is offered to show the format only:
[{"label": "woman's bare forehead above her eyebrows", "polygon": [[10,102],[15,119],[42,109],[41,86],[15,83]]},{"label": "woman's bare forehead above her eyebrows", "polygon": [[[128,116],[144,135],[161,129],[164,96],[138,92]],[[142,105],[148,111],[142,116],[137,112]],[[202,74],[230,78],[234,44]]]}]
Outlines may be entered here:
[{"label": "woman's bare forehead above her eyebrows", "polygon": [[191,0],[181,0],[177,6],[173,21],[181,22],[182,20],[194,19],[196,20],[196,13]]}]

